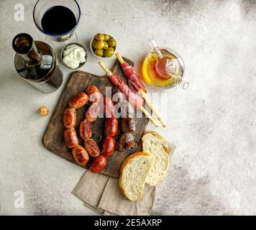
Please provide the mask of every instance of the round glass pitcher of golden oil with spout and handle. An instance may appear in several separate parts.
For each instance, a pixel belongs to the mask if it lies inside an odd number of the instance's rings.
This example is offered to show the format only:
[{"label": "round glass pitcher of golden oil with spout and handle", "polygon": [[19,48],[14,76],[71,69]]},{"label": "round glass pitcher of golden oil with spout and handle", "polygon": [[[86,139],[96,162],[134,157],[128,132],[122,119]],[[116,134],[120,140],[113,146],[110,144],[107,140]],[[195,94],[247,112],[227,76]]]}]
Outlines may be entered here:
[{"label": "round glass pitcher of golden oil with spout and handle", "polygon": [[183,59],[170,48],[159,48],[155,40],[150,39],[151,51],[142,64],[142,77],[146,83],[157,88],[170,88],[177,85],[188,88],[189,83],[183,80]]}]

